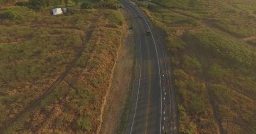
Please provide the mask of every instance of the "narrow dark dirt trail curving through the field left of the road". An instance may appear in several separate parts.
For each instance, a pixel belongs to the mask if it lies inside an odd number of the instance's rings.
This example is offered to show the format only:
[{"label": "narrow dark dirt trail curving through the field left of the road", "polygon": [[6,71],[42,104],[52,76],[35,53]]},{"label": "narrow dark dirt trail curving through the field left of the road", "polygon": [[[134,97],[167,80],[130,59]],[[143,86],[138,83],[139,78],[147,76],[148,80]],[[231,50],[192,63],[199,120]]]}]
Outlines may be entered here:
[{"label": "narrow dark dirt trail curving through the field left of the road", "polygon": [[27,108],[25,108],[23,111],[21,111],[20,113],[18,113],[16,116],[13,117],[13,119],[10,119],[9,121],[3,123],[2,127],[0,128],[0,134],[3,134],[4,131],[6,131],[8,129],[9,126],[11,126],[14,122],[16,122],[18,119],[20,119],[22,116],[24,116],[27,112],[31,111],[32,109],[34,109],[36,106],[38,106],[40,104],[40,102],[47,97],[52,91],[53,89],[64,79],[64,77],[66,77],[66,75],[69,73],[69,71],[72,69],[72,67],[75,65],[76,61],[80,58],[82,52],[84,51],[85,45],[86,43],[90,40],[91,38],[91,33],[93,31],[93,26],[95,24],[95,22],[97,21],[97,19],[99,18],[96,17],[93,22],[91,23],[91,26],[89,28],[89,31],[87,32],[87,36],[85,41],[83,41],[83,48],[80,50],[80,52],[77,53],[76,57],[72,60],[72,62],[69,64],[69,66],[67,67],[67,69],[65,70],[65,72],[63,72],[60,77],[53,83],[53,85],[51,85],[50,88],[48,88],[48,90],[41,95],[39,98],[35,99],[32,103],[29,104],[29,106]]}]

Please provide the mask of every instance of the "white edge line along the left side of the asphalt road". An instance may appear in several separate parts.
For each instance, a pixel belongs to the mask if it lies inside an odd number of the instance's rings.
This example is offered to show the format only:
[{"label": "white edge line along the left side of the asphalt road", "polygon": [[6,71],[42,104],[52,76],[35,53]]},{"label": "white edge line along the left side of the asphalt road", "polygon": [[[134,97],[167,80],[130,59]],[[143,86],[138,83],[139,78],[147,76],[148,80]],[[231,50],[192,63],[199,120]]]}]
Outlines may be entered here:
[{"label": "white edge line along the left side of the asphalt road", "polygon": [[[125,5],[123,5],[125,7]],[[125,7],[126,8],[126,7]],[[126,10],[128,10],[126,8]],[[131,12],[128,10],[128,12],[131,14]],[[134,23],[136,24],[136,29],[137,29],[137,32],[139,34],[139,28],[138,28],[138,25],[135,21],[135,19],[133,18],[132,14],[131,14],[131,18],[133,19]],[[139,34],[139,45],[140,45],[140,60],[141,60],[141,39],[140,39],[140,34]],[[140,88],[140,82],[141,82],[141,61],[140,61],[140,71],[139,71],[139,88]],[[136,114],[136,109],[137,109],[137,103],[138,103],[138,97],[139,97],[139,88],[138,88],[138,93],[137,93],[137,98],[136,98],[136,105],[135,105],[135,110],[134,110],[134,114],[133,114],[133,123],[134,123],[134,119],[135,119],[135,114]],[[131,125],[131,131],[133,129],[133,123]],[[130,134],[131,134],[131,131],[130,131]]]}]

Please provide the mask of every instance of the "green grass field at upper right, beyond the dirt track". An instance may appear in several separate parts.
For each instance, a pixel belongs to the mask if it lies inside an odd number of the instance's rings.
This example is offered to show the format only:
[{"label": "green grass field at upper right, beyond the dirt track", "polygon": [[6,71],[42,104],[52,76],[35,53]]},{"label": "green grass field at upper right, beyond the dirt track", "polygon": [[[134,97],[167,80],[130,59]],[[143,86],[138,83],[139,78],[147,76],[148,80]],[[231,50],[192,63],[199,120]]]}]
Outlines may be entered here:
[{"label": "green grass field at upper right, beyond the dirt track", "polygon": [[256,21],[253,10],[256,9],[253,0],[153,0],[166,8],[203,19],[237,37],[256,35]]}]

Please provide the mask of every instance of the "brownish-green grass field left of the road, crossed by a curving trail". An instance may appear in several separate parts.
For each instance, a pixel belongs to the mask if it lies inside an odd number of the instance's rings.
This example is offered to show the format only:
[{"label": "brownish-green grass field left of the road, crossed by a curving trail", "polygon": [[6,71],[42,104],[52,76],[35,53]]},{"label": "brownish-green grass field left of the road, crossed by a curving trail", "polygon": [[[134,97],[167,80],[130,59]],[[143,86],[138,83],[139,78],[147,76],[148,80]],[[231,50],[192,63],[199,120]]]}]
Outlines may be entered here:
[{"label": "brownish-green grass field left of the road, crossed by a curving trail", "polygon": [[2,17],[1,129],[6,134],[96,132],[123,21],[117,11],[100,9],[36,13],[26,21]]}]

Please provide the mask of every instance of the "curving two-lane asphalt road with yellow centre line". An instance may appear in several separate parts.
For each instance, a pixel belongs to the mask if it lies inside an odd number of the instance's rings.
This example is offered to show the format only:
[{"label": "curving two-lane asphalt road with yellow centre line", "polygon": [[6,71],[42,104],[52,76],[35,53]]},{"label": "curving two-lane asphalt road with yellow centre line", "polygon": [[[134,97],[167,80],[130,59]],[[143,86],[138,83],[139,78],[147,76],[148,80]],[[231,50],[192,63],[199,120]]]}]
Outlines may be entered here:
[{"label": "curving two-lane asphalt road with yellow centre line", "polygon": [[[167,69],[160,40],[149,18],[136,8],[134,3],[129,0],[120,0],[120,2],[130,13],[138,44],[136,83],[125,134],[164,134],[165,131],[171,134],[170,89],[165,75]],[[142,18],[138,15],[142,15]],[[146,30],[149,30],[151,35],[146,35]],[[164,83],[166,95],[163,91]],[[164,130],[162,130],[163,126]]]}]

